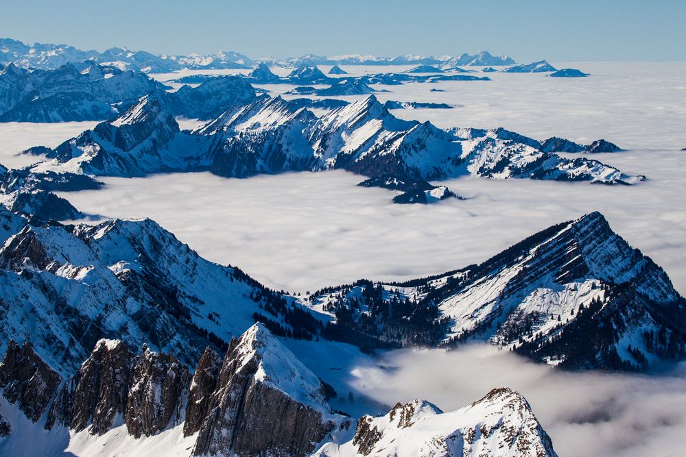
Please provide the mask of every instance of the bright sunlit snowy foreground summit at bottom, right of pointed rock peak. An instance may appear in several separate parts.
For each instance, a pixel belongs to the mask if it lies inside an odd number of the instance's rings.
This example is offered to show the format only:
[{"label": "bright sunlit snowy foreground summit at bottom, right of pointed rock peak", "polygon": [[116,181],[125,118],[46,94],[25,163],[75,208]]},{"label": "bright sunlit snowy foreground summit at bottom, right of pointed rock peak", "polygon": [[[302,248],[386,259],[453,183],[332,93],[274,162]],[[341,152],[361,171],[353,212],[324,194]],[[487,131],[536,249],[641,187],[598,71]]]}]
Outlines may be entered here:
[{"label": "bright sunlit snowy foreground summit at bottom, right of pointed rock peak", "polygon": [[555,457],[552,440],[531,406],[509,388],[453,412],[416,399],[397,404],[382,417],[363,416],[355,436],[325,445],[319,456],[530,456]]}]

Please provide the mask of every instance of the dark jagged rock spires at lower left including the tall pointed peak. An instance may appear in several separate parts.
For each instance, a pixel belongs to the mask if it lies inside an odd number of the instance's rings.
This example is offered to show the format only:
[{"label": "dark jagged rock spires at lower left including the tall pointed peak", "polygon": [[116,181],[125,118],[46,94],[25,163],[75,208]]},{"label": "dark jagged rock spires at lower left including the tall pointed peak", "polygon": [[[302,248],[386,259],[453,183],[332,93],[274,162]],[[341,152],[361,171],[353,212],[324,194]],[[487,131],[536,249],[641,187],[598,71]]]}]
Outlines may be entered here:
[{"label": "dark jagged rock spires at lower left including the tall pointed peak", "polygon": [[[196,455],[307,456],[344,418],[324,400],[320,380],[261,324],[231,341],[223,362],[207,348],[195,369],[171,354],[100,340],[58,391],[59,375],[26,344],[0,365],[4,395],[45,428],[102,435],[125,424],[145,439],[183,424]],[[0,411],[1,414],[1,411]],[[10,424],[0,423],[0,433]]]}]

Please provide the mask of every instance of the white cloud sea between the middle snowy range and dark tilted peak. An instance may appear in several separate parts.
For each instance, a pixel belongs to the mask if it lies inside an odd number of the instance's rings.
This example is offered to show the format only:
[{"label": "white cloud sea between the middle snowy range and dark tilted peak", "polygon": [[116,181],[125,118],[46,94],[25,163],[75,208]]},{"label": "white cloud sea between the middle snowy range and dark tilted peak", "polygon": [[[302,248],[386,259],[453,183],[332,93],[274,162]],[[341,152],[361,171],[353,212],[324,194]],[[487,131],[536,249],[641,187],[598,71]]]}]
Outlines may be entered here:
[{"label": "white cloud sea between the middle snowy range and dark tilted peak", "polygon": [[600,160],[646,173],[636,186],[488,180],[447,185],[465,201],[397,205],[342,171],[246,180],[209,173],[104,178],[104,190],[64,193],[102,217],[150,217],[202,256],[241,267],[268,286],[305,292],[372,280],[409,280],[482,262],[549,225],[593,210],[660,264],[686,293],[686,181],[681,151],[628,151]]}]

